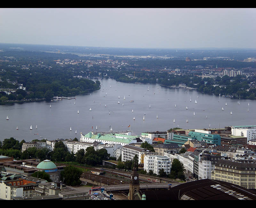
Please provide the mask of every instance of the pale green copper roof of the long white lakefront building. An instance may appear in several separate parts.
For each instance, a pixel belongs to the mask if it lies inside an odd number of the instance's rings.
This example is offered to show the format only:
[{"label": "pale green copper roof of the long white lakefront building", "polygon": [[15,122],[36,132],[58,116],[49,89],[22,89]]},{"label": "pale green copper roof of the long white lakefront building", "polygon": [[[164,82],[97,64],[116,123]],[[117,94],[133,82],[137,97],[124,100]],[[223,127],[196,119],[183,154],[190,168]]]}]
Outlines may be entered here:
[{"label": "pale green copper roof of the long white lakefront building", "polygon": [[[95,140],[116,141],[116,142],[127,143],[127,144],[129,144],[133,139],[138,137],[138,136],[130,136],[126,134],[112,134],[112,133],[103,134],[103,135],[101,134],[99,137],[98,134],[92,134],[91,136],[90,133],[92,132],[85,134],[84,137],[95,139]],[[117,138],[117,137],[124,137],[124,138]]]}]

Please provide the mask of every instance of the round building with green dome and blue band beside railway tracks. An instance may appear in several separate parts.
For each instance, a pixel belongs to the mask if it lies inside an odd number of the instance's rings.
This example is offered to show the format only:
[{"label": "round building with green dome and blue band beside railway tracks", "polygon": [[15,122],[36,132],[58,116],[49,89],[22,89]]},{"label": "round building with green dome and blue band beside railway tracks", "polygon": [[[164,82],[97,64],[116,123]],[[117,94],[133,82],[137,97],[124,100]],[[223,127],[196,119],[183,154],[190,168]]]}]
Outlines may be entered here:
[{"label": "round building with green dome and blue band beside railway tracks", "polygon": [[52,181],[57,180],[59,176],[59,171],[57,166],[50,160],[44,160],[36,166],[36,169],[39,171],[45,171],[50,175]]}]

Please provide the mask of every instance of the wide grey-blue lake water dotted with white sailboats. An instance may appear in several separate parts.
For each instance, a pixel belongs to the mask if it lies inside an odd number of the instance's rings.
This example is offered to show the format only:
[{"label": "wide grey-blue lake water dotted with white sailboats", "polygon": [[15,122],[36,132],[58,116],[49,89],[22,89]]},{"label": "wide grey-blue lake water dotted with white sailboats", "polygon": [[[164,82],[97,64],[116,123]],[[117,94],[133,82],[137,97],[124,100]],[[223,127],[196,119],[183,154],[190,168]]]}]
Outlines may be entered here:
[{"label": "wide grey-blue lake water dotted with white sailboats", "polygon": [[[100,90],[92,92],[91,95],[78,95],[76,100],[0,106],[0,140],[10,137],[27,142],[44,138],[79,139],[80,132],[86,134],[92,130],[92,126],[96,131],[96,125],[98,132],[109,131],[111,126],[113,131],[126,131],[131,128],[133,135],[146,131],[166,131],[178,125],[183,129],[209,128],[210,124],[211,128],[256,125],[255,100],[240,100],[238,105],[238,100],[207,95],[196,90],[187,90],[186,93],[185,89],[165,88],[159,84],[118,83],[113,79],[103,79],[100,82]],[[131,100],[134,102],[130,102]],[[222,107],[224,110],[221,110]],[[89,111],[90,108],[92,111]],[[6,116],[9,120],[6,120]],[[29,130],[30,125],[33,130]],[[19,130],[16,130],[17,126]]]}]

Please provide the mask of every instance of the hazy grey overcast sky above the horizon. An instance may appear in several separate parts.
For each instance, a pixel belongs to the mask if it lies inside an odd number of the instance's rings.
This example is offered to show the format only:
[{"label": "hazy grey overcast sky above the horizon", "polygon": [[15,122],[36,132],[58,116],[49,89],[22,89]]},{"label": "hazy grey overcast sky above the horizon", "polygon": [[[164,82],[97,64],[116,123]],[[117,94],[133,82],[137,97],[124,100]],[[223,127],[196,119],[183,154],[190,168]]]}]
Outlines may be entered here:
[{"label": "hazy grey overcast sky above the horizon", "polygon": [[256,9],[0,9],[0,43],[256,48]]}]

